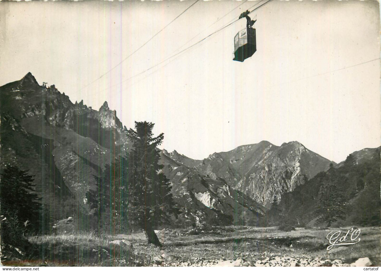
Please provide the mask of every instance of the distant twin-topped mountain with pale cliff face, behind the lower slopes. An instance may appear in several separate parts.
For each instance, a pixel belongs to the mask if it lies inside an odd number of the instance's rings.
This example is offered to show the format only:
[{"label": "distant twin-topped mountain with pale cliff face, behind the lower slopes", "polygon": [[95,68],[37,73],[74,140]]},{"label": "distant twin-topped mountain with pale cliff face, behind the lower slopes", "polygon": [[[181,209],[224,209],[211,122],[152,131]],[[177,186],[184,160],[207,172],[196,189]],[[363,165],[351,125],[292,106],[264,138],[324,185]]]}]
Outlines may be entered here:
[{"label": "distant twin-topped mountain with pale cliff face, behind the lower slopes", "polygon": [[[168,152],[166,152],[168,154]],[[208,158],[191,160],[176,151],[174,160],[193,167],[211,179],[224,179],[234,189],[263,205],[328,169],[328,159],[310,151],[297,141],[275,146],[268,141],[244,145],[228,152],[215,152]]]}]

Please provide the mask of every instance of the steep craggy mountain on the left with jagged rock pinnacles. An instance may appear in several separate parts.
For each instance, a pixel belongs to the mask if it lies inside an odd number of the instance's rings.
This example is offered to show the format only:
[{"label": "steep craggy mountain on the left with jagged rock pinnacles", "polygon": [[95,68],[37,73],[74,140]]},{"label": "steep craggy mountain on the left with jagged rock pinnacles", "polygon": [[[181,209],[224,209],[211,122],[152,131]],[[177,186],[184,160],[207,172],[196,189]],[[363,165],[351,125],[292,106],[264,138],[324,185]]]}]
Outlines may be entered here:
[{"label": "steep craggy mountain on the left with jagged rock pinnacles", "polygon": [[[54,85],[40,86],[31,73],[0,87],[0,103],[0,165],[11,163],[35,175],[43,203],[55,206],[55,219],[73,214],[75,205],[85,209],[94,176],[130,147],[106,102],[99,111],[83,101],[73,104]],[[62,207],[63,201],[70,204]]]}]

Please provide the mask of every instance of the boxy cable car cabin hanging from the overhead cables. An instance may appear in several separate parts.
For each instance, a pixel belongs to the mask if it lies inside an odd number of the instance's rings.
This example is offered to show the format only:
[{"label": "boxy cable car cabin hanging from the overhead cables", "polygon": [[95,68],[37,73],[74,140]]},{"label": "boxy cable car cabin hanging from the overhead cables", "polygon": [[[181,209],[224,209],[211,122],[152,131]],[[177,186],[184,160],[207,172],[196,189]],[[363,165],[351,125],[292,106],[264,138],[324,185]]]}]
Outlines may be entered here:
[{"label": "boxy cable car cabin hanging from the overhead cables", "polygon": [[242,29],[234,37],[234,58],[235,61],[243,62],[243,60],[251,57],[257,51],[255,28],[253,28],[256,20],[251,20],[245,11],[239,16],[239,19],[245,17],[247,20],[246,28]]}]

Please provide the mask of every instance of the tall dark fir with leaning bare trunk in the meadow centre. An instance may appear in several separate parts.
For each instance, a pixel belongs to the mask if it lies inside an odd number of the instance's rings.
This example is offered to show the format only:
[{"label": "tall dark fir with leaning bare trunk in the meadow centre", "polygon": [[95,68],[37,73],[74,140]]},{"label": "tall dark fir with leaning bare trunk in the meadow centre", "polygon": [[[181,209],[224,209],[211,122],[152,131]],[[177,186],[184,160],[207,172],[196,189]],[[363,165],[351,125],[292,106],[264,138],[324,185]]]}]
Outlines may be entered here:
[{"label": "tall dark fir with leaning bare trunk in the meadow centre", "polygon": [[149,243],[161,246],[154,227],[168,222],[177,209],[171,194],[169,180],[159,165],[160,152],[157,149],[164,134],[154,137],[151,122],[135,122],[135,130],[128,130],[128,137],[134,144],[127,157],[128,172],[128,216],[146,233]]}]

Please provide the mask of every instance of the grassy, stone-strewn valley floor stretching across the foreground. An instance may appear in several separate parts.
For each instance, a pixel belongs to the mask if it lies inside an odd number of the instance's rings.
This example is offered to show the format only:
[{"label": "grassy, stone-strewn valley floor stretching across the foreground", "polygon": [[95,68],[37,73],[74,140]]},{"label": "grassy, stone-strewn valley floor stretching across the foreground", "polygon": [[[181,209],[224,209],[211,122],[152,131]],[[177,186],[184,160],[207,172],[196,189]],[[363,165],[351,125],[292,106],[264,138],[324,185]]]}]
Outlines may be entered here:
[{"label": "grassy, stone-strewn valley floor stretching across the foreground", "polygon": [[[349,227],[351,228],[351,227]],[[162,229],[162,247],[147,244],[144,233],[94,236],[35,236],[45,256],[24,265],[48,266],[379,266],[380,231],[361,228],[354,245],[327,250],[326,238],[338,229],[280,231],[246,226]],[[42,250],[39,250],[42,251]],[[40,259],[40,260],[38,260]],[[360,260],[359,260],[360,259]],[[38,263],[39,262],[39,263]],[[16,263],[17,265],[17,263]]]}]

